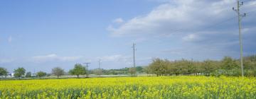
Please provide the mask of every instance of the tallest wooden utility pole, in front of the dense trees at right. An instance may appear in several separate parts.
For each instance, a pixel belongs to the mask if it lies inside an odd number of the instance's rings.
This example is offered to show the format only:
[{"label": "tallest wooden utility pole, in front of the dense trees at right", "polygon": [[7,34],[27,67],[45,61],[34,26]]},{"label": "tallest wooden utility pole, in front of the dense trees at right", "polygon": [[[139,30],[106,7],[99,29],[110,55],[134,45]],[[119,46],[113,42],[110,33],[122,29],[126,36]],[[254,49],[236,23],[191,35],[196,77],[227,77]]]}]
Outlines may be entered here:
[{"label": "tallest wooden utility pole, in front of the dense trees at right", "polygon": [[241,64],[241,71],[242,71],[242,77],[244,76],[244,71],[243,71],[243,55],[242,55],[242,34],[241,34],[241,20],[242,17],[246,16],[246,13],[240,14],[240,6],[243,5],[243,2],[240,3],[240,1],[238,0],[238,4],[237,4],[237,9],[235,9],[233,7],[233,11],[235,11],[236,13],[238,13],[238,26],[239,26],[239,44],[240,44],[240,64]]}]

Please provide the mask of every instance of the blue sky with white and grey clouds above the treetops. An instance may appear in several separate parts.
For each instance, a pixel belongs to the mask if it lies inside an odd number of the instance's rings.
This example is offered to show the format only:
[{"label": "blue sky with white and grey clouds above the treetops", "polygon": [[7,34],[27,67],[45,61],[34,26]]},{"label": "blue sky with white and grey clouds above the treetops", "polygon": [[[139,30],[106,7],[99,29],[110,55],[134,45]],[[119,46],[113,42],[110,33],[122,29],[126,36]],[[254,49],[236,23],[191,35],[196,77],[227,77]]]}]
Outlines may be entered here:
[{"label": "blue sky with white and grey clouds above the treetops", "polygon": [[[0,66],[65,71],[132,66],[151,59],[239,58],[235,0],[0,1]],[[255,54],[256,1],[241,7],[245,55]]]}]

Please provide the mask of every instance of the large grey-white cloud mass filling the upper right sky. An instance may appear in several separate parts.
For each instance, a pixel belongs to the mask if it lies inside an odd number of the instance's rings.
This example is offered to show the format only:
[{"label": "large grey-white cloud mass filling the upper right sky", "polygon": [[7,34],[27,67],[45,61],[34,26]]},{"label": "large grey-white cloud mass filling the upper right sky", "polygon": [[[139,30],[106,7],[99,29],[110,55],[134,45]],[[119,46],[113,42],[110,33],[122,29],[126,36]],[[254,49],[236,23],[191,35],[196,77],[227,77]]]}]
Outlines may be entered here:
[{"label": "large grey-white cloud mass filling the upper right sky", "polygon": [[[174,49],[166,53],[186,54],[183,57],[200,57],[206,54],[219,57],[239,52],[238,22],[232,7],[236,1],[201,1],[201,0],[174,0],[164,1],[145,15],[131,18],[122,25],[110,25],[108,30],[114,37],[133,37],[151,40],[158,37],[163,43],[169,42]],[[242,12],[253,11],[256,1],[247,1],[242,6]],[[256,13],[243,18],[242,30],[244,47],[248,52],[254,52],[256,45],[255,23]],[[193,51],[189,51],[193,50]],[[203,50],[203,51],[202,51]],[[198,54],[196,54],[198,53]],[[178,56],[179,57],[179,56]]]}]

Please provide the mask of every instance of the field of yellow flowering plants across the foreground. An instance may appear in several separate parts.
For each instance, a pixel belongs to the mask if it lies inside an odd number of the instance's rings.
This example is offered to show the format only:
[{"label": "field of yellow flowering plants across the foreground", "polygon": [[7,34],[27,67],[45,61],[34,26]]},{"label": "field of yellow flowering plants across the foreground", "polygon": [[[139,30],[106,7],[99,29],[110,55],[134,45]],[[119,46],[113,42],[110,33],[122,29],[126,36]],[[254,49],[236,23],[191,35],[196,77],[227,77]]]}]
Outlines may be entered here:
[{"label": "field of yellow flowering plants across the foreground", "polygon": [[0,81],[0,98],[256,98],[256,78],[169,76]]}]

